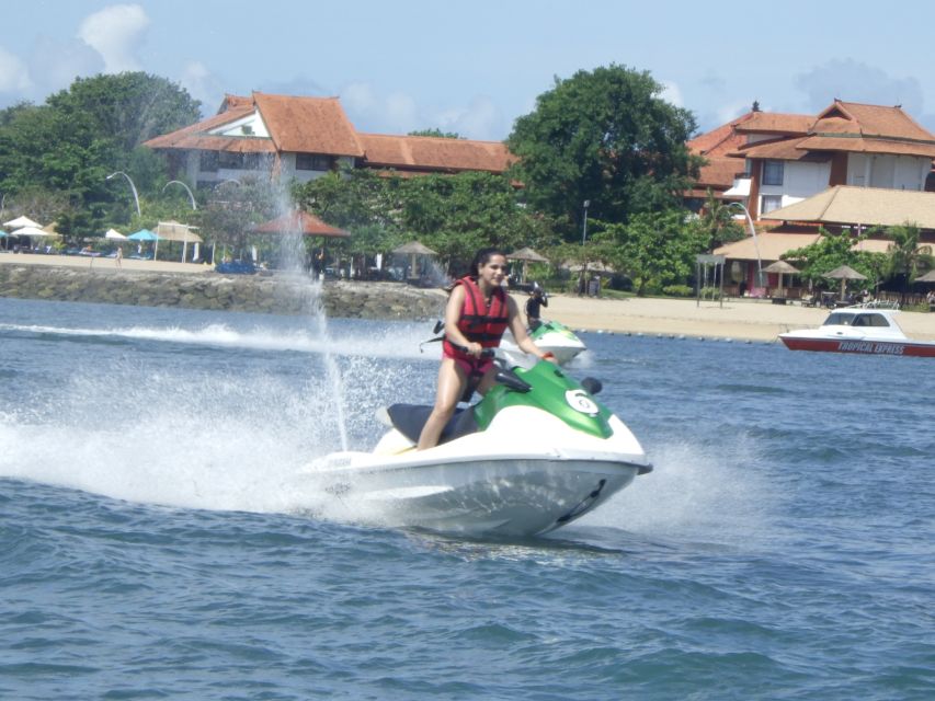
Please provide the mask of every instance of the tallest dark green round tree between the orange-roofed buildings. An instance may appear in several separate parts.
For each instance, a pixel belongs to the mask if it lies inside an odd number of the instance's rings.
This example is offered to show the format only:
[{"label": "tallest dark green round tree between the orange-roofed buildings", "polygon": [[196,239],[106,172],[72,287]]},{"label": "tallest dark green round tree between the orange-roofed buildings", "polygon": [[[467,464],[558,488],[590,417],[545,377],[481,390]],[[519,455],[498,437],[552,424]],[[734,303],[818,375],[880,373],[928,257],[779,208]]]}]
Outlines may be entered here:
[{"label": "tallest dark green round tree between the orange-roofed buildings", "polygon": [[512,175],[529,205],[581,231],[590,216],[626,222],[641,211],[677,206],[702,160],[685,143],[696,128],[686,110],[662,97],[648,72],[611,65],[579,71],[539,95],[520,117],[508,146],[518,157]]}]

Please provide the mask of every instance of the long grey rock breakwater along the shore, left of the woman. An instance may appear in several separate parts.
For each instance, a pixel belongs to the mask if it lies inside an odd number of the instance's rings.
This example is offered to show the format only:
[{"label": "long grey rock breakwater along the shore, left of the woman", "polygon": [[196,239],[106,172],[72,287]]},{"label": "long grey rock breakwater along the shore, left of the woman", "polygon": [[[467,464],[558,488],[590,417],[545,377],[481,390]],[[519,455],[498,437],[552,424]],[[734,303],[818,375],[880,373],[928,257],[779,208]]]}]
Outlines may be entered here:
[{"label": "long grey rock breakwater along the shore, left of the woman", "polygon": [[303,275],[186,275],[42,265],[0,265],[0,297],[55,301],[181,307],[225,311],[307,313],[317,304],[329,317],[434,319],[444,313],[442,290],[397,283],[326,281]]}]

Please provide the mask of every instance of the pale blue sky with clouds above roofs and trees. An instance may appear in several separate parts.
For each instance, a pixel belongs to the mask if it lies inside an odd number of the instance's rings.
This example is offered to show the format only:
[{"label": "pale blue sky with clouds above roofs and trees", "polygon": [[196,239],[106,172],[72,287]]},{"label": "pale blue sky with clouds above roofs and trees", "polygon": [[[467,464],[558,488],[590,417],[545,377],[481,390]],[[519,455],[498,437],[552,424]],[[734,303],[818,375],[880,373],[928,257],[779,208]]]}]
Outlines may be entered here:
[{"label": "pale blue sky with clouds above roofs and trees", "polygon": [[339,96],[360,131],[505,139],[580,70],[648,71],[699,131],[839,97],[935,133],[935,1],[0,0],[0,107],[142,70],[215,114],[226,93]]}]

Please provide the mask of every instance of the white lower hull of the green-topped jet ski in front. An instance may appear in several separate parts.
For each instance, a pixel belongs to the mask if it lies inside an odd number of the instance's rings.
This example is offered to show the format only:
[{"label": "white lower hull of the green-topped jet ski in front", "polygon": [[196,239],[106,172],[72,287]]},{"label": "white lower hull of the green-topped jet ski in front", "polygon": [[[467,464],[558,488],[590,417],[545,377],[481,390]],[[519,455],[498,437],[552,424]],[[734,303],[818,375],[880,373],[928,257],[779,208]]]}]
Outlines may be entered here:
[{"label": "white lower hull of the green-topped jet ski in front", "polygon": [[[309,473],[362,520],[467,536],[528,537],[570,524],[648,466],[614,460],[509,458],[369,464],[343,453]],[[337,459],[337,463],[335,463]],[[341,464],[343,462],[343,464]]]}]

